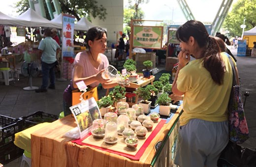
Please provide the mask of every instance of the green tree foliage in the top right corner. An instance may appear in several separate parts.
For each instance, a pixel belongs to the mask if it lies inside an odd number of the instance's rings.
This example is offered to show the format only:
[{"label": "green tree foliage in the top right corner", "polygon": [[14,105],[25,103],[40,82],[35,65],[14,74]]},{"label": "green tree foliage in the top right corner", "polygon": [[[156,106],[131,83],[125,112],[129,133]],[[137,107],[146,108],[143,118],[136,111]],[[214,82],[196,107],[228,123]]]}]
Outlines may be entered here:
[{"label": "green tree foliage in the top right corner", "polygon": [[223,27],[229,30],[231,36],[241,36],[245,18],[245,31],[256,26],[256,0],[238,0],[225,18]]}]

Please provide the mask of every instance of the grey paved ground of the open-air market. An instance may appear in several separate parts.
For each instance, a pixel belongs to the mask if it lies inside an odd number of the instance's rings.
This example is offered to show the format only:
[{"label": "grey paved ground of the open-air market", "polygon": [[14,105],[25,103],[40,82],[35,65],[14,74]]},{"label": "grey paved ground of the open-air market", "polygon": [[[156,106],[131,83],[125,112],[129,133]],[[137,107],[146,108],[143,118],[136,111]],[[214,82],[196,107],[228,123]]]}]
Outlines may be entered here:
[{"label": "grey paved ground of the open-air market", "polygon": [[[236,50],[231,49],[236,55]],[[243,146],[256,149],[256,58],[237,57],[237,67],[239,70],[242,91],[250,92],[246,99],[245,112],[249,126],[250,139]],[[163,69],[163,66],[160,66]],[[41,78],[32,79],[33,86],[41,85]],[[57,82],[56,90],[49,89],[47,93],[35,93],[34,91],[23,90],[23,87],[29,86],[29,78],[21,76],[20,81],[9,86],[0,84],[0,114],[18,118],[26,116],[35,111],[44,111],[59,115],[63,110],[63,90],[69,81]],[[105,90],[99,90],[99,96],[104,95]],[[18,158],[4,167],[19,167],[21,158]]]}]

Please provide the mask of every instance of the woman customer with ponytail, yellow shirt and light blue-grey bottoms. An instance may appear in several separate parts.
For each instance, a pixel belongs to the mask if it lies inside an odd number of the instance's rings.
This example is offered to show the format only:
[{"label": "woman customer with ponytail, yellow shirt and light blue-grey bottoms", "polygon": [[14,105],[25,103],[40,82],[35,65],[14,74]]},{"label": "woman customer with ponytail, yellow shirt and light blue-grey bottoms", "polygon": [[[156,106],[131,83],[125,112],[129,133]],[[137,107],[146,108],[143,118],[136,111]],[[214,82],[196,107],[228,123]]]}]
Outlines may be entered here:
[{"label": "woman customer with ponytail, yellow shirt and light blue-grey bottoms", "polygon": [[[231,65],[201,22],[186,22],[176,37],[181,51],[172,92],[184,98],[174,163],[180,167],[217,167],[228,143]],[[190,61],[191,56],[195,60]]]}]

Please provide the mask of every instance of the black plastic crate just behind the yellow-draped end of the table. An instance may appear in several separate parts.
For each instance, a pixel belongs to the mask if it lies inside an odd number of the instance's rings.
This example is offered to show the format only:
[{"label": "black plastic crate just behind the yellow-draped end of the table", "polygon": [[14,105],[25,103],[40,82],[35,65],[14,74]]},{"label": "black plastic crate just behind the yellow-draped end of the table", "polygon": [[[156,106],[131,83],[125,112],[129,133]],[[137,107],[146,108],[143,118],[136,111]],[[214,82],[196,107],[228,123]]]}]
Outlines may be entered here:
[{"label": "black plastic crate just behind the yellow-draped end of the table", "polygon": [[59,119],[58,115],[46,113],[43,111],[36,111],[28,116],[20,117],[23,120],[23,129],[27,129],[31,126],[34,126],[43,122],[53,122]]}]

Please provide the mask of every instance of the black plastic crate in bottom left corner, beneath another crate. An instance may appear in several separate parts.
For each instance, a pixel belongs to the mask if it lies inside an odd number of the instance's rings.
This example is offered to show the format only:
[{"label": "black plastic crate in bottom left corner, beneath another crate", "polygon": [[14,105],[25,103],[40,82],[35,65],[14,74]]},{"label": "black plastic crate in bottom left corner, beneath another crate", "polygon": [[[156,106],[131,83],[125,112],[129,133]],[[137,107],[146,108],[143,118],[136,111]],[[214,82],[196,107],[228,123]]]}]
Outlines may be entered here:
[{"label": "black plastic crate in bottom left corner, beneath another crate", "polygon": [[13,142],[0,148],[0,162],[5,165],[22,156],[24,150],[17,147]]}]

